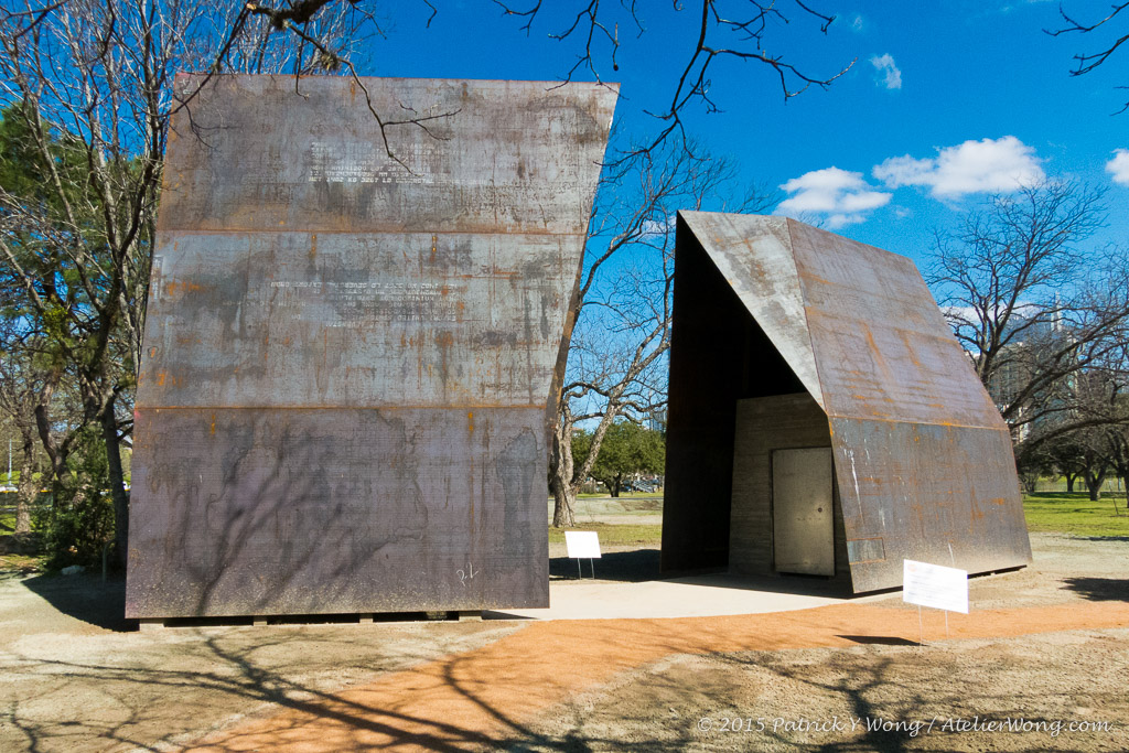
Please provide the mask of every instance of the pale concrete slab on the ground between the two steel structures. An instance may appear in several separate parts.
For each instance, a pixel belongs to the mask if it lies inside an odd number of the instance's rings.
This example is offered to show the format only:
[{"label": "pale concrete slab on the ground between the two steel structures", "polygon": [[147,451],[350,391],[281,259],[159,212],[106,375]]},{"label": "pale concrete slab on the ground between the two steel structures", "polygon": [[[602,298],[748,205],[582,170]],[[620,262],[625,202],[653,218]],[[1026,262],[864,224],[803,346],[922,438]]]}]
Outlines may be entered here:
[{"label": "pale concrete slab on the ground between the two steel structures", "polygon": [[[885,598],[887,596],[866,597]],[[825,581],[692,576],[644,583],[555,580],[549,608],[483,612],[485,620],[619,620],[708,618],[806,610],[848,598]]]}]

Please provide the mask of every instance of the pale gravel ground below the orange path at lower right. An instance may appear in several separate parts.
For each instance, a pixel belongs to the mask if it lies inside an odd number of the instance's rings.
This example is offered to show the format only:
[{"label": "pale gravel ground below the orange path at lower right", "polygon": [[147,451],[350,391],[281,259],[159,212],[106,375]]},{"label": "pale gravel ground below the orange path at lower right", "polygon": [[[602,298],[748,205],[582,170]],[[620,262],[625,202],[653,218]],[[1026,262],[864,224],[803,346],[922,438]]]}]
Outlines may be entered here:
[{"label": "pale gravel ground below the orange path at lower right", "polygon": [[1126,751],[1127,640],[675,655],[554,709],[510,750]]}]

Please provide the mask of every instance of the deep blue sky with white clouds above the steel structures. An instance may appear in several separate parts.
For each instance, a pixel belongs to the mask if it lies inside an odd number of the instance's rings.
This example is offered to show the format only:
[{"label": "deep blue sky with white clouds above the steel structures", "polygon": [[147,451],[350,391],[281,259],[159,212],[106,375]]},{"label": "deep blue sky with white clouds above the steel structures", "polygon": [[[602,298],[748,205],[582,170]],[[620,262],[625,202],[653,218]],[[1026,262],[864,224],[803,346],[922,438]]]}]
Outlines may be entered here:
[{"label": "deep blue sky with white clouds above the steel structures", "polygon": [[[540,18],[526,36],[485,0],[436,5],[429,29],[423,3],[390,11],[387,36],[374,42],[365,72],[552,80],[575,61],[572,41],[548,36],[564,27],[563,12]],[[700,12],[689,0],[682,11],[663,0],[639,5],[641,37],[620,15],[619,71],[597,59],[603,78],[621,84],[616,117],[637,131],[656,128],[642,111],[668,103]],[[746,180],[781,187],[778,211],[920,264],[934,228],[951,226],[987,193],[1057,176],[1108,187],[1110,227],[1094,243],[1122,242],[1129,155],[1118,160],[1115,150],[1129,149],[1129,112],[1113,113],[1129,98],[1114,89],[1129,84],[1126,55],[1069,76],[1071,56],[1110,34],[1048,36],[1044,28],[1061,25],[1053,1],[809,5],[838,17],[829,33],[781,2],[793,23],[770,25],[765,49],[812,76],[854,60],[850,71],[828,90],[812,88],[785,104],[763,64],[720,63],[711,93],[724,112],[693,105],[688,117],[692,133],[735,158]],[[1064,5],[1084,19],[1108,10],[1101,2]],[[742,3],[728,7],[736,12]]]}]

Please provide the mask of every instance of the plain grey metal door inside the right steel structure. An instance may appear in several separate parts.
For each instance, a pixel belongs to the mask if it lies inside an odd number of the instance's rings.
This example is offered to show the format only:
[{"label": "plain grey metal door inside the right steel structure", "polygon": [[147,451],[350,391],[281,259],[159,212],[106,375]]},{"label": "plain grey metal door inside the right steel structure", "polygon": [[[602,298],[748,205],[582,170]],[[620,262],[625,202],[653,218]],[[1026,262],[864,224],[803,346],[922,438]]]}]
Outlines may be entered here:
[{"label": "plain grey metal door inside the right steel structure", "polygon": [[772,550],[777,572],[835,573],[831,448],[772,450]]}]

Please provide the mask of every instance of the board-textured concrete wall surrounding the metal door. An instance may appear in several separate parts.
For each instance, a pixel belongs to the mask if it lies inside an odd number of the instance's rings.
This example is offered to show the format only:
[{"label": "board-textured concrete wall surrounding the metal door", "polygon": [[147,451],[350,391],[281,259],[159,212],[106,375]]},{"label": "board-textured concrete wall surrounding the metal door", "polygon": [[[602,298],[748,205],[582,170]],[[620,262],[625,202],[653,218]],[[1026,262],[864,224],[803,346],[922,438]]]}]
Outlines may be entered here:
[{"label": "board-textured concrete wall surrounding the metal door", "polygon": [[[831,447],[828,417],[806,393],[736,402],[733,497],[729,513],[729,571],[776,575],[772,559],[772,450]],[[833,583],[850,588],[847,537],[838,489],[832,497]]]}]

